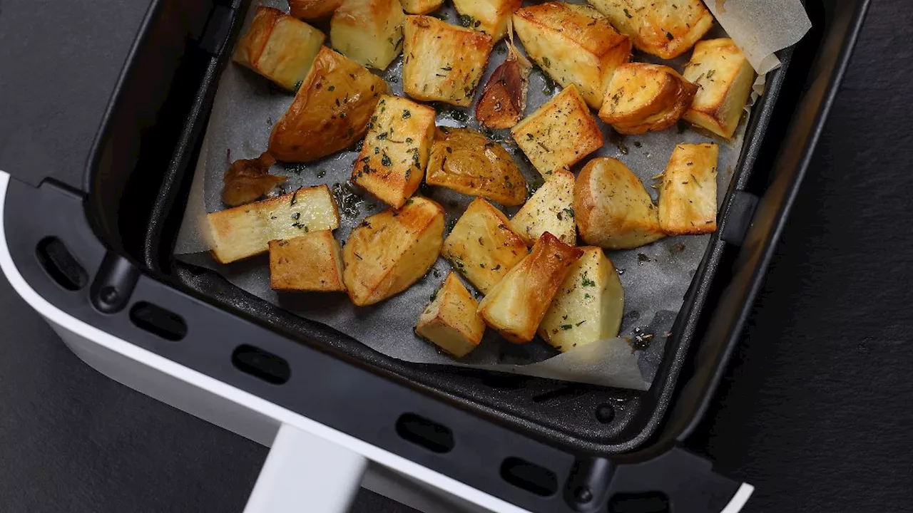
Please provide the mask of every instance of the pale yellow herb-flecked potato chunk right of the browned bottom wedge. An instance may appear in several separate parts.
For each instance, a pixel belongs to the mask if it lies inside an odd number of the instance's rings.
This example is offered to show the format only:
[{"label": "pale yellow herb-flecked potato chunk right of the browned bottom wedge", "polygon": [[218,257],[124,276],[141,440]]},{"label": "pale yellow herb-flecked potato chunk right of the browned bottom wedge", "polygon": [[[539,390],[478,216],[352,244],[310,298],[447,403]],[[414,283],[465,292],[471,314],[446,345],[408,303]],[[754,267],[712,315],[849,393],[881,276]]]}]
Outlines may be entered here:
[{"label": "pale yellow herb-flecked potato chunk right of the browned bottom wedge", "polygon": [[602,248],[581,247],[558,294],[539,325],[539,334],[558,351],[618,336],[624,314],[624,289]]}]

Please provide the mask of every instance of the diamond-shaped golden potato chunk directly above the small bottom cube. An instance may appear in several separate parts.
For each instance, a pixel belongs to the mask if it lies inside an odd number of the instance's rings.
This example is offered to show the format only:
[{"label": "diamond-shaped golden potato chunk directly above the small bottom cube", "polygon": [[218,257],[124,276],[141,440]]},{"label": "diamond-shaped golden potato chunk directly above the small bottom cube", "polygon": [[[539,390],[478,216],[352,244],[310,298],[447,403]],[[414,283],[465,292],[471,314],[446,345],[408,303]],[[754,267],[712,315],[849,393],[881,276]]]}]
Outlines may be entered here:
[{"label": "diamond-shaped golden potato chunk directly above the small bottom cube", "polygon": [[473,287],[488,294],[511,267],[526,257],[527,249],[510,229],[508,218],[477,198],[444,240],[442,254]]}]

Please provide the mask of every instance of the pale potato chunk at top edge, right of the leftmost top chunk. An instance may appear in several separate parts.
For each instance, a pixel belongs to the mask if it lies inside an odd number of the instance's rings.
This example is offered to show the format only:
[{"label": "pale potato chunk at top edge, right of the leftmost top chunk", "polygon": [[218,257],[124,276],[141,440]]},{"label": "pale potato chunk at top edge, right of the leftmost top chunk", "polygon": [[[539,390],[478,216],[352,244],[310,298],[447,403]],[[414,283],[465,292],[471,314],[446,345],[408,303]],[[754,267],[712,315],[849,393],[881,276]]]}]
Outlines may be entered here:
[{"label": "pale potato chunk at top edge, right of the leftmost top chunk", "polygon": [[330,22],[334,48],[367,68],[386,69],[403,49],[399,0],[345,0]]}]

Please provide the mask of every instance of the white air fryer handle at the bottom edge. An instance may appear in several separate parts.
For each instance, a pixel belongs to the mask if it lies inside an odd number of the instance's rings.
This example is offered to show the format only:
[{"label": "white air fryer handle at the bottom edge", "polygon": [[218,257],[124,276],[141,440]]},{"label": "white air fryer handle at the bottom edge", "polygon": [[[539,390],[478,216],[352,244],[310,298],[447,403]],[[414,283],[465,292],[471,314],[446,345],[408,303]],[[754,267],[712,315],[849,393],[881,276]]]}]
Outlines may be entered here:
[{"label": "white air fryer handle at the bottom edge", "polygon": [[364,456],[282,424],[244,511],[345,513],[365,466]]}]

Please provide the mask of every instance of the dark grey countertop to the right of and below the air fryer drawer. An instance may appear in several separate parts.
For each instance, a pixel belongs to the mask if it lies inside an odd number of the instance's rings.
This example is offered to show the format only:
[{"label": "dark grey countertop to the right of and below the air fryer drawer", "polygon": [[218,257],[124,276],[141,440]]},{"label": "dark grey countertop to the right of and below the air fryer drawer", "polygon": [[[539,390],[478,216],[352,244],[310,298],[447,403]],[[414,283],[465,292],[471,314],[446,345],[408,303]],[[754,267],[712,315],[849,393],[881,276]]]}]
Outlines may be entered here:
[{"label": "dark grey countertop to the right of and below the air fryer drawer", "polygon": [[[911,3],[872,5],[744,340],[688,443],[757,487],[745,511],[913,511],[910,26]],[[243,508],[264,447],[91,370],[2,278],[0,349],[0,510]],[[353,510],[404,508],[362,492]]]}]

